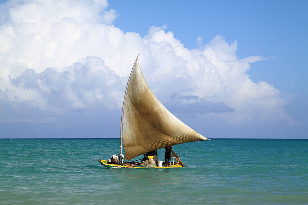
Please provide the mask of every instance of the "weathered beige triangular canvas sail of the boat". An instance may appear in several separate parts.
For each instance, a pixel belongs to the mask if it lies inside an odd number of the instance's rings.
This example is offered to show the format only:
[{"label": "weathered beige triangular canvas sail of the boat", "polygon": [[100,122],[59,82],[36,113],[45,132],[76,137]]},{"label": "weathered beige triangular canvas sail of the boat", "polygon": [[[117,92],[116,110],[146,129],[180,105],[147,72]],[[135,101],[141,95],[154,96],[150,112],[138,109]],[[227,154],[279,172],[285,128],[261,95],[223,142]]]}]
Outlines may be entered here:
[{"label": "weathered beige triangular canvas sail of the boat", "polygon": [[125,159],[185,142],[207,140],[170,113],[147,86],[138,60],[129,78],[123,110]]}]

